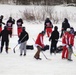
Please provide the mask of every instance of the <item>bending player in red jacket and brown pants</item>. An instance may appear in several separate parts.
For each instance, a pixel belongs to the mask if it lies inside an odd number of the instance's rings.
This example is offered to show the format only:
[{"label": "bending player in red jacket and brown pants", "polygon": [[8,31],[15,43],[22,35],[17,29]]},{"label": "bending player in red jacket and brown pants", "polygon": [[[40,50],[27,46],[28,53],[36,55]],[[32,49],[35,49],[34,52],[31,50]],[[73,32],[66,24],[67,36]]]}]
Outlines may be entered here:
[{"label": "bending player in red jacket and brown pants", "polygon": [[41,33],[38,34],[37,39],[35,41],[35,45],[37,47],[37,52],[34,55],[35,59],[41,59],[40,58],[40,51],[41,51],[41,48],[44,48],[44,43],[43,43],[44,35],[45,35],[45,32],[42,31]]}]

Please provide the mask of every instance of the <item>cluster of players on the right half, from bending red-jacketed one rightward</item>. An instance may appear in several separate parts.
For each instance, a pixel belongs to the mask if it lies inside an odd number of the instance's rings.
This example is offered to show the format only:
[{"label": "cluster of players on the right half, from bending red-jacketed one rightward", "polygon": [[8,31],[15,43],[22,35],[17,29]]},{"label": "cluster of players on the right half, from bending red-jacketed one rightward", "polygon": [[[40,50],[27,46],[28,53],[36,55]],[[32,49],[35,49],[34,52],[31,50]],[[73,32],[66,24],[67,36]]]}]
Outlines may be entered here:
[{"label": "cluster of players on the right half, from bending red-jacketed one rightward", "polygon": [[[54,26],[54,30],[52,30],[53,24],[50,21],[49,18],[45,20],[44,23],[44,30],[40,32],[37,36],[37,39],[35,41],[35,45],[37,47],[37,52],[34,55],[35,59],[40,59],[40,51],[42,48],[45,47],[43,43],[44,35],[47,34],[49,41],[51,41],[51,47],[50,47],[50,54],[54,53],[56,54],[57,50],[57,43],[59,39],[59,31],[58,27]],[[62,59],[67,59],[69,61],[72,61],[71,55],[73,53],[73,46],[74,46],[74,37],[76,36],[76,32],[74,31],[73,27],[70,27],[70,24],[68,22],[68,19],[65,18],[62,23],[62,30],[60,38],[62,38]]]}]

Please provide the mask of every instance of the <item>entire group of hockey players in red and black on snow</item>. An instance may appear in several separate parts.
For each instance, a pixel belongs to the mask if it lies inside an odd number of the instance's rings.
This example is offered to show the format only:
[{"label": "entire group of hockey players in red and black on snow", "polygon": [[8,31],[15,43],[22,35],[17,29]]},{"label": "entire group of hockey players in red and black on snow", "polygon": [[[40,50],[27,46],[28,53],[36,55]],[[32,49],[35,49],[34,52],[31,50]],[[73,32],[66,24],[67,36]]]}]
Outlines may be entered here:
[{"label": "entire group of hockey players in red and black on snow", "polygon": [[[3,51],[4,43],[6,45],[6,53],[8,53],[8,46],[9,46],[9,35],[12,37],[12,27],[13,24],[15,24],[15,20],[12,17],[9,17],[9,20],[6,22],[6,24],[2,21],[3,16],[0,16],[0,37],[1,39],[1,50],[0,53]],[[29,34],[26,31],[25,27],[22,26],[23,20],[20,18],[17,20],[17,31],[18,31],[18,44],[20,44],[20,56],[23,54],[24,50],[24,56],[26,55],[26,45],[27,41],[29,40]],[[2,30],[2,24],[4,24],[4,29]],[[54,28],[54,30],[53,30]],[[50,47],[50,54],[54,53],[56,54],[57,49],[57,43],[59,39],[59,31],[57,26],[53,26],[52,22],[49,18],[46,18],[44,22],[44,30],[41,31],[37,39],[35,40],[35,46],[37,47],[37,52],[34,55],[35,59],[40,59],[40,51],[42,48],[45,47],[43,43],[44,35],[47,34],[47,37],[49,38],[48,41],[51,41],[51,47]],[[70,27],[70,24],[68,22],[68,19],[65,18],[62,23],[62,30],[61,30],[61,36],[62,38],[62,59],[68,59],[69,61],[72,61],[71,55],[73,53],[72,47],[74,46],[74,37],[76,35],[76,32],[74,32],[74,28]]]}]

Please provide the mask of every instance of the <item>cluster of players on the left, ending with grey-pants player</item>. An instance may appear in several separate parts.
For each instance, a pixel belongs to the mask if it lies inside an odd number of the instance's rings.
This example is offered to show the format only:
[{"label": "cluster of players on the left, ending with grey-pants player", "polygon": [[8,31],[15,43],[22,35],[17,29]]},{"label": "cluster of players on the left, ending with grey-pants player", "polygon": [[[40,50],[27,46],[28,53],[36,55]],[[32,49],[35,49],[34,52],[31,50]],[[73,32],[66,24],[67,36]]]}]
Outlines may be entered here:
[{"label": "cluster of players on the left, ending with grey-pants player", "polygon": [[[13,24],[15,24],[15,20],[12,17],[9,17],[6,24],[2,21],[3,15],[0,16],[0,38],[1,38],[1,47],[0,47],[0,53],[3,51],[3,47],[5,44],[5,50],[6,53],[8,53],[8,47],[9,47],[9,36],[12,37],[12,31],[13,31]],[[24,50],[24,56],[26,55],[26,43],[29,39],[29,35],[25,30],[25,27],[22,26],[23,20],[20,18],[17,20],[17,32],[18,32],[18,43],[21,44],[20,46],[20,55],[22,55],[22,52]],[[4,29],[2,29],[2,24],[4,24]],[[26,35],[26,36],[25,36]]]}]

